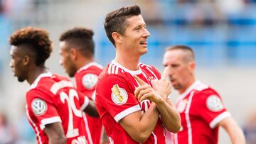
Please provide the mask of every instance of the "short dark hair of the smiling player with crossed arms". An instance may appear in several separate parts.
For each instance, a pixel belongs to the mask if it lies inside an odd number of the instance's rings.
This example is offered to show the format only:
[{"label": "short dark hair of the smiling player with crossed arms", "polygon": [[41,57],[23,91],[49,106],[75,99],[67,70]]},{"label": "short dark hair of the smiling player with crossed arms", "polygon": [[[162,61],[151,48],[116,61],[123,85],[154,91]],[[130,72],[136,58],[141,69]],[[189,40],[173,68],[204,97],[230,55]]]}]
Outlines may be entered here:
[{"label": "short dark hair of the smiling player with crossed arms", "polygon": [[115,45],[112,33],[117,32],[121,35],[124,34],[125,28],[127,28],[127,18],[132,16],[138,16],[141,14],[139,6],[123,6],[115,11],[107,14],[105,18],[104,28],[107,34],[107,38],[110,39],[111,43]]}]

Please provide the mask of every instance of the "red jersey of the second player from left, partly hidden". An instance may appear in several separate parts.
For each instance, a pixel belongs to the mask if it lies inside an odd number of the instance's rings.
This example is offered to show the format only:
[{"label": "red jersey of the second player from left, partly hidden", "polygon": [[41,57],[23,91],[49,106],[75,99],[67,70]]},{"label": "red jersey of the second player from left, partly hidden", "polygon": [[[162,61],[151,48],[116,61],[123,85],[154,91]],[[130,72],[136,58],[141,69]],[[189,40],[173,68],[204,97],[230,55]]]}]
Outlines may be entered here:
[{"label": "red jersey of the second player from left, partly hidden", "polygon": [[[91,62],[81,67],[75,74],[75,82],[79,92],[95,101],[95,85],[98,76],[102,72],[103,67],[96,62]],[[100,144],[102,133],[102,123],[100,118],[95,118],[85,114],[85,129],[88,135],[88,141],[91,144]]]}]

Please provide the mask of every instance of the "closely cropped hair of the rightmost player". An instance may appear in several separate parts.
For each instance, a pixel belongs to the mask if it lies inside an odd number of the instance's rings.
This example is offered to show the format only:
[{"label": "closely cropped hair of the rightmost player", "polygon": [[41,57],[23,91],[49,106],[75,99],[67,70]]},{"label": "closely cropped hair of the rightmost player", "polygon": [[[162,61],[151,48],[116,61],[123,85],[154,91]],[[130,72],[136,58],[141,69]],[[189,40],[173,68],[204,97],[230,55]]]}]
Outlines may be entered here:
[{"label": "closely cropped hair of the rightmost player", "polygon": [[186,56],[184,57],[184,60],[186,60],[186,62],[195,60],[193,49],[186,45],[172,45],[166,48],[166,51],[170,50],[182,50],[183,52],[186,52]]}]

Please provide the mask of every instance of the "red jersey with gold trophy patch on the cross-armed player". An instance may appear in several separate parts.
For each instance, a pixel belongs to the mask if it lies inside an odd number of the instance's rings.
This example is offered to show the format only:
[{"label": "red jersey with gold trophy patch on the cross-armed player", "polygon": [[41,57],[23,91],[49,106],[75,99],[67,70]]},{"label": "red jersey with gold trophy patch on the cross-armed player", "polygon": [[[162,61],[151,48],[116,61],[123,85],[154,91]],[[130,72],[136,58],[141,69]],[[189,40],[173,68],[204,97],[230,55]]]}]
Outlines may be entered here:
[{"label": "red jersey with gold trophy patch on the cross-armed player", "polygon": [[[150,85],[151,79],[161,78],[161,74],[154,67],[140,63],[139,70],[131,71],[114,60],[107,65],[99,77],[96,87],[96,106],[110,143],[137,143],[118,122],[135,111],[147,111],[151,105],[151,101],[144,100],[140,103],[134,96],[134,90],[139,86],[133,77],[134,74]],[[165,143],[164,128],[160,119],[145,143]]]}]

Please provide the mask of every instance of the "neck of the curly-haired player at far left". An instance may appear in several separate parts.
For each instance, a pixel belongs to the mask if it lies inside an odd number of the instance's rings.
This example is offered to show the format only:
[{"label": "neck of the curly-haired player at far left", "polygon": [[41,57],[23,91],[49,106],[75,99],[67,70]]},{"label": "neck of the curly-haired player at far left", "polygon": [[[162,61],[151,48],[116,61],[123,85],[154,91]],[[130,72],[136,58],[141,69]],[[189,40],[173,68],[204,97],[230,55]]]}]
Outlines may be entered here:
[{"label": "neck of the curly-haired player at far left", "polygon": [[40,75],[43,74],[45,72],[48,72],[46,70],[46,67],[34,67],[32,70],[29,70],[28,72],[28,79],[27,82],[28,84],[33,84],[33,82],[36,80],[36,78]]}]

